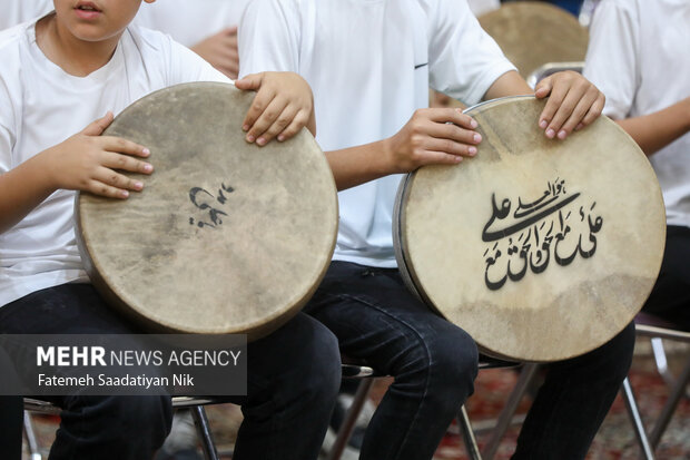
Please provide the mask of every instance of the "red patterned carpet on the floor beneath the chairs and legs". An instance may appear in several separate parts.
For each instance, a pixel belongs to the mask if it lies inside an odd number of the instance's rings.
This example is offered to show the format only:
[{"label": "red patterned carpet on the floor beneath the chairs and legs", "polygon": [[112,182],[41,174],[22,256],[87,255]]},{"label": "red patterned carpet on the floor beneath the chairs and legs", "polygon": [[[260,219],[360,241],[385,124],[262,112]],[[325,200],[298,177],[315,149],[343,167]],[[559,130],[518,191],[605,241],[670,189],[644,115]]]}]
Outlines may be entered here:
[{"label": "red patterned carpet on the floor beneath the chairs and legs", "polygon": [[[668,388],[655,371],[647,343],[638,340],[638,344],[639,348],[630,378],[633,390],[638,395],[643,420],[649,428],[666,401]],[[689,354],[688,348],[676,349],[669,356],[671,369],[678,369],[682,365]],[[480,431],[477,434],[480,447],[486,441],[486,434],[482,433],[482,427],[490,425],[491,420],[497,417],[512,391],[516,378],[516,373],[512,370],[485,370],[480,372],[475,394],[467,402],[470,419],[474,428]],[[385,380],[377,382],[373,392],[374,400],[381,398],[386,384]],[[530,401],[525,399],[518,413],[524,414],[529,403]],[[218,448],[221,451],[227,451],[231,448],[237,427],[240,422],[241,415],[239,415],[238,409],[234,405],[225,404],[209,407],[207,412]],[[46,453],[55,437],[56,419],[34,417],[34,425],[38,432],[39,444],[43,453]],[[451,428],[448,434],[438,447],[434,460],[461,460],[467,458],[460,435],[452,431],[455,431],[454,427]],[[496,460],[510,458],[515,446],[518,431],[519,427],[513,427],[509,430],[499,448],[495,457]],[[30,457],[27,449],[24,451],[23,458],[28,460]],[[655,453],[659,460],[690,460],[690,401],[688,399],[680,403]],[[588,460],[638,459],[639,456],[640,450],[623,401],[619,397],[590,449]],[[43,458],[47,458],[47,456]],[[223,458],[229,459],[227,456]]]}]

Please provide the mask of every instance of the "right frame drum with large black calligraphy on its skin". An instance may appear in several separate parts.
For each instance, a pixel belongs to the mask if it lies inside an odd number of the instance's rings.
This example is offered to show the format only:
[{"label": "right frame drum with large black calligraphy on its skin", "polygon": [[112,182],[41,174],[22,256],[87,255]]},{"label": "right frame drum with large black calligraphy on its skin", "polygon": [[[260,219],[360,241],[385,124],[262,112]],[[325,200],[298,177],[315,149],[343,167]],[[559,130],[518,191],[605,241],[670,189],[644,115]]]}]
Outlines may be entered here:
[{"label": "right frame drum with large black calligraphy on its skin", "polygon": [[401,183],[394,238],[403,277],[487,354],[573,358],[629,324],[655,282],[666,212],[637,144],[605,117],[565,141],[544,107],[511,97],[465,110],[475,158]]}]

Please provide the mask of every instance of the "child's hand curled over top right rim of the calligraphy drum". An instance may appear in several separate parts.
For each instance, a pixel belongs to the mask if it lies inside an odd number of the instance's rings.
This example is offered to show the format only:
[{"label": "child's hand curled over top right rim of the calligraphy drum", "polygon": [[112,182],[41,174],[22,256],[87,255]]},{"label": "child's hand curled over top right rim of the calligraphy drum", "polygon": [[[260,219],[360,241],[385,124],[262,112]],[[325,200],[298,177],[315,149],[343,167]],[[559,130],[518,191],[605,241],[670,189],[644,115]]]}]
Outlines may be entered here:
[{"label": "child's hand curled over top right rim of the calligraphy drum", "polygon": [[591,124],[601,115],[605,97],[586,78],[574,71],[553,74],[535,88],[538,99],[549,96],[539,118],[546,137],[565,139],[570,133]]}]

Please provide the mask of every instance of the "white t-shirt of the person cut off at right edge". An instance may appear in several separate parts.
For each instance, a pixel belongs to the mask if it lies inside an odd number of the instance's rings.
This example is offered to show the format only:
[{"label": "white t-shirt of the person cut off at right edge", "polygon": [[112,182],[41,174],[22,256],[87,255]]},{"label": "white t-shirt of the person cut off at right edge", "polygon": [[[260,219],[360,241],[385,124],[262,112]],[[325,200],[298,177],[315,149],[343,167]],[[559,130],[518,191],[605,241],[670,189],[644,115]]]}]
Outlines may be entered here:
[{"label": "white t-shirt of the person cut off at right edge", "polygon": [[[689,49],[688,0],[604,0],[590,26],[583,74],[607,96],[605,115],[648,115],[690,96]],[[650,162],[668,223],[690,226],[690,134]]]}]

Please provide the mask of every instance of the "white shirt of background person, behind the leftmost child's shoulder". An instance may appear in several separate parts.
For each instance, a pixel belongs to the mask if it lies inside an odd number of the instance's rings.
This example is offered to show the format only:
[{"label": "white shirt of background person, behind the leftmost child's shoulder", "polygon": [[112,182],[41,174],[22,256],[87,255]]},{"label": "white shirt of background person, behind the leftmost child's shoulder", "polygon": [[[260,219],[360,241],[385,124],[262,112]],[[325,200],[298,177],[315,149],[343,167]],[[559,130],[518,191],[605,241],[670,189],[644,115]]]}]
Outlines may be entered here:
[{"label": "white shirt of background person, behind the leftmost child's shoulder", "polygon": [[186,47],[193,47],[208,36],[239,19],[249,0],[159,0],[144,3],[134,23],[169,33]]}]

